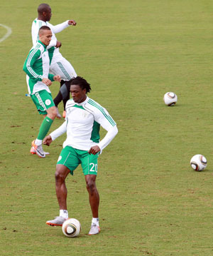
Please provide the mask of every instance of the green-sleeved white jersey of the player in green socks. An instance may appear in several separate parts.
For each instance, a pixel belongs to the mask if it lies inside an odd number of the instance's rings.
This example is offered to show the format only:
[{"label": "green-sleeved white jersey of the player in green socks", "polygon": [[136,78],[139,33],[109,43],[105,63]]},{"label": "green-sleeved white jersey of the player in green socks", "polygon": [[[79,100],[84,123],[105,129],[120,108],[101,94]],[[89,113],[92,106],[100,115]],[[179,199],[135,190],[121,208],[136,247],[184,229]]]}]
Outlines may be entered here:
[{"label": "green-sleeved white jersey of the player in green socks", "polygon": [[46,90],[50,93],[50,89],[42,82],[43,78],[53,80],[53,75],[49,74],[50,59],[46,46],[38,41],[29,52],[23,71],[27,74],[28,92],[34,94],[37,91]]}]

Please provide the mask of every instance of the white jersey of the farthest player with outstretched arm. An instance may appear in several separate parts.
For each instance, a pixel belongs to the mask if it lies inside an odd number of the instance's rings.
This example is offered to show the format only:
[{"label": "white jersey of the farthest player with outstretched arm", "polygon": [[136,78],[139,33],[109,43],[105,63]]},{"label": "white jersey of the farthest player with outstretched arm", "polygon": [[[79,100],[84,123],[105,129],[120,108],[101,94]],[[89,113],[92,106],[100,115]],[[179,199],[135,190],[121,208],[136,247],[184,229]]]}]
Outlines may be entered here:
[{"label": "white jersey of the farthest player with outstretched arm", "polygon": [[38,31],[41,26],[48,26],[52,31],[53,36],[52,36],[50,44],[48,45],[47,48],[48,48],[49,56],[50,56],[50,63],[54,64],[57,61],[60,61],[60,58],[63,58],[59,51],[59,48],[55,48],[56,43],[57,43],[57,38],[56,38],[55,34],[59,33],[63,29],[66,29],[69,26],[68,21],[65,21],[62,24],[53,26],[48,21],[45,22],[45,21],[41,21],[37,18],[34,19],[32,27],[31,27],[33,46],[35,46],[35,44],[38,42],[38,38],[39,38]]}]

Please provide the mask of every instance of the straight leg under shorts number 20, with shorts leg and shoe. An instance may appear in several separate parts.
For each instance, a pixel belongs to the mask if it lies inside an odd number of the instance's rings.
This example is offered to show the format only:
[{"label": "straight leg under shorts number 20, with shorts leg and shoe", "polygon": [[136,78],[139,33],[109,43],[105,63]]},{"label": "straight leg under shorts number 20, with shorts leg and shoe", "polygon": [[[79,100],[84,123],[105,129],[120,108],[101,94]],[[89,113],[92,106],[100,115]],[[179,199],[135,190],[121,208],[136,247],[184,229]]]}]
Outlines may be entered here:
[{"label": "straight leg under shorts number 20, with shorts leg and shoe", "polygon": [[92,210],[92,225],[89,230],[89,235],[96,235],[100,232],[99,227],[99,193],[96,186],[97,177],[97,155],[89,155],[85,153],[84,157],[81,158],[82,169],[84,178],[87,184],[87,191],[89,194],[89,205]]}]

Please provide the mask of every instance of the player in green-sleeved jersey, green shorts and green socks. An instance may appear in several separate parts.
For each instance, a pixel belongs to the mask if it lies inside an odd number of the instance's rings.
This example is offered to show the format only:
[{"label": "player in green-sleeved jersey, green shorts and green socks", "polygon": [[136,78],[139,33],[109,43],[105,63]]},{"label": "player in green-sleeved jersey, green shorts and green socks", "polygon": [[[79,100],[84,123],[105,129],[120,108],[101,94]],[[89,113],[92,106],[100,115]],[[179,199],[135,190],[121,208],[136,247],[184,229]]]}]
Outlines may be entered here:
[{"label": "player in green-sleeved jersey, green shorts and green socks", "polygon": [[40,158],[45,158],[45,153],[42,148],[42,140],[48,133],[52,125],[57,111],[50,89],[52,81],[60,81],[60,76],[54,76],[49,73],[50,58],[47,51],[52,37],[52,32],[48,26],[41,26],[39,29],[39,40],[31,48],[28,53],[23,71],[26,72],[26,80],[28,84],[28,92],[35,103],[38,112],[45,116],[41,123],[38,137],[33,140],[31,153],[36,153]]}]

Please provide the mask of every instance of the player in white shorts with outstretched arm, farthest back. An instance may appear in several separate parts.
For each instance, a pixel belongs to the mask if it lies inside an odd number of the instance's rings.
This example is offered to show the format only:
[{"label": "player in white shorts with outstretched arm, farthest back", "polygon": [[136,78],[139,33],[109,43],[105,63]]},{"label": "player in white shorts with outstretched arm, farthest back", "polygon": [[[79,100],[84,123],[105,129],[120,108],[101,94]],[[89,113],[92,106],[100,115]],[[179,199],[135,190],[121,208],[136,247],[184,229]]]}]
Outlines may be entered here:
[{"label": "player in white shorts with outstretched arm, farthest back", "polygon": [[[70,81],[71,78],[76,77],[75,69],[72,67],[69,61],[67,61],[59,51],[61,42],[57,40],[55,34],[59,33],[68,26],[76,26],[74,20],[67,20],[62,24],[53,26],[48,21],[50,21],[52,16],[51,8],[48,4],[40,4],[38,6],[38,18],[33,21],[31,34],[33,40],[33,46],[38,41],[38,31],[40,26],[48,26],[52,31],[52,40],[48,46],[48,51],[50,55],[50,73],[53,75],[59,74],[62,81],[60,82],[60,91],[58,95],[54,98],[55,106],[58,107],[60,101],[64,103],[63,117],[65,117],[65,106],[67,100],[70,98],[70,83],[65,83],[65,81]],[[61,118],[60,113],[57,110],[57,117]]]}]

